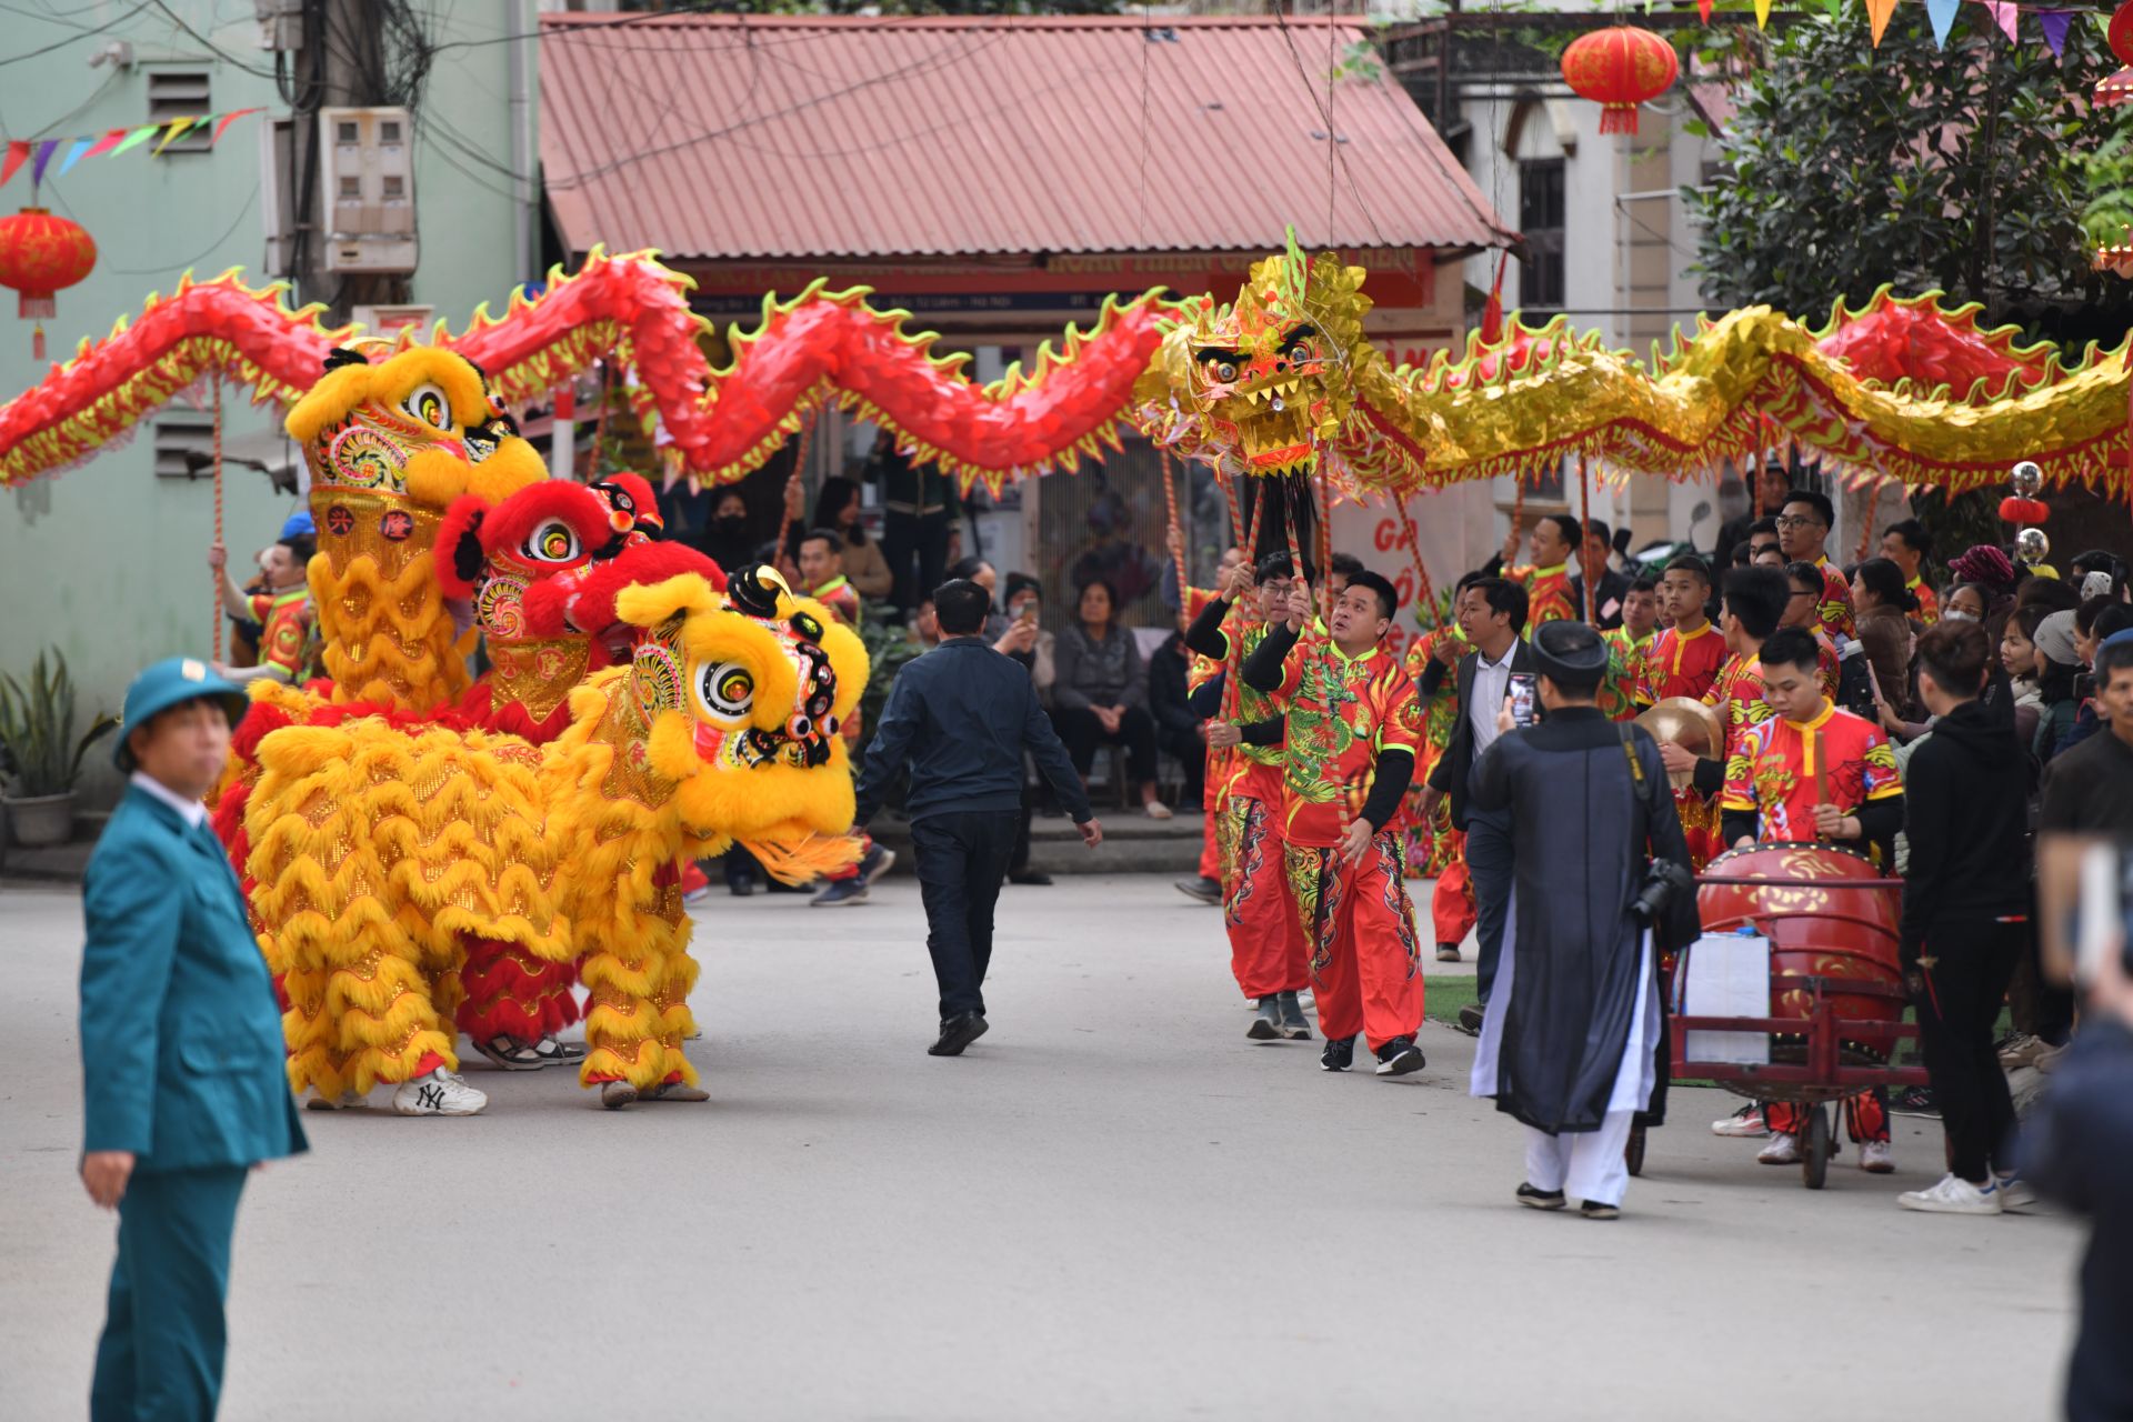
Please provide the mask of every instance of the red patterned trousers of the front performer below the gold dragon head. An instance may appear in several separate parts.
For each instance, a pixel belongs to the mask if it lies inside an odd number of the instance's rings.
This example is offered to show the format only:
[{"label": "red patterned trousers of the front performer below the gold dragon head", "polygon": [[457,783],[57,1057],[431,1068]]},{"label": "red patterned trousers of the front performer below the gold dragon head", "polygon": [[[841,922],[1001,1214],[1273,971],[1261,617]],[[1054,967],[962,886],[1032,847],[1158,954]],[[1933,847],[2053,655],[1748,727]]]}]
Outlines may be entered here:
[{"label": "red patterned trousers of the front performer below the gold dragon head", "polygon": [[1288,846],[1288,887],[1312,944],[1318,1030],[1361,1032],[1372,1051],[1423,1025],[1423,964],[1399,838],[1380,834],[1348,863],[1337,849]]}]

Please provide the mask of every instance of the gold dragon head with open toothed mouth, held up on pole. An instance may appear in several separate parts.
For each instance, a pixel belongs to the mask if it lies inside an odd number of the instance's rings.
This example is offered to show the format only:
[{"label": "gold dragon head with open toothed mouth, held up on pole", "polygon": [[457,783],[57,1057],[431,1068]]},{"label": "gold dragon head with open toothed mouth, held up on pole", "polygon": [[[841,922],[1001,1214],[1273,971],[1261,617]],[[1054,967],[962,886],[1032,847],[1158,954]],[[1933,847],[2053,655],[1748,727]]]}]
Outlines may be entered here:
[{"label": "gold dragon head with open toothed mouth, held up on pole", "polygon": [[1354,409],[1359,362],[1376,356],[1365,311],[1363,269],[1308,258],[1290,235],[1284,254],[1252,264],[1233,305],[1207,303],[1169,333],[1141,403],[1171,403],[1169,441],[1188,452],[1220,452],[1250,475],[1308,471]]}]

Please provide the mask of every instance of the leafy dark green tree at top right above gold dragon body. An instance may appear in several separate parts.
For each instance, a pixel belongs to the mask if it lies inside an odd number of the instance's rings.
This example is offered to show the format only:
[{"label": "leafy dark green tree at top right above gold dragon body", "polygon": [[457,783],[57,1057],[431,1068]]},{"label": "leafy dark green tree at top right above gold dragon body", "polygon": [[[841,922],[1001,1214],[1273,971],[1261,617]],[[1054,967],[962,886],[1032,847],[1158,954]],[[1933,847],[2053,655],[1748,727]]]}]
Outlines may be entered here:
[{"label": "leafy dark green tree at top right above gold dragon body", "polygon": [[2095,273],[2090,249],[2124,213],[2133,113],[2088,100],[2118,68],[2088,15],[2063,60],[2035,17],[2009,43],[1975,6],[1941,49],[1924,4],[1898,6],[1879,49],[1860,4],[1762,49],[1717,175],[1687,192],[1711,303],[1815,320],[1890,281],[1979,301],[2033,335],[2124,330],[2129,288]]}]

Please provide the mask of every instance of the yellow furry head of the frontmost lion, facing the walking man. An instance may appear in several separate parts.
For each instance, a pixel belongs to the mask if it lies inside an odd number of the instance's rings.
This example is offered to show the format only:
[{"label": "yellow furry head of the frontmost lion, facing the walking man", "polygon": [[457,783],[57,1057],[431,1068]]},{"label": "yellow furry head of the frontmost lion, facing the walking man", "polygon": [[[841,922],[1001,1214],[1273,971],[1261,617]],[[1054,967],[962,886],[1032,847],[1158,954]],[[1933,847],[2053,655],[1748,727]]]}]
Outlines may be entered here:
[{"label": "yellow furry head of the frontmost lion, facing the walking man", "polygon": [[843,836],[851,765],[838,727],[866,689],[866,648],[768,567],[719,593],[700,576],[616,597],[638,629],[621,697],[646,727],[644,765],[678,785],[689,834]]}]

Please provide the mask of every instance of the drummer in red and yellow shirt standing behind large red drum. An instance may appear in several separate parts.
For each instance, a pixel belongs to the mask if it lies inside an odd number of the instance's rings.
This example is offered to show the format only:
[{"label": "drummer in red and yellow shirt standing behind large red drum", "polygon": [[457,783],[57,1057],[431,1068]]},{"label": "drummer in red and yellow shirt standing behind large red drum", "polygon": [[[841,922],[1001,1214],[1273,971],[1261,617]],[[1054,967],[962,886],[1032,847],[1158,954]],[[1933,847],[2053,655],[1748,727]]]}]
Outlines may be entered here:
[{"label": "drummer in red and yellow shirt standing behind large red drum", "polygon": [[[1726,763],[1719,799],[1726,842],[1837,840],[1860,849],[1886,844],[1903,827],[1903,776],[1881,727],[1837,710],[1822,691],[1815,640],[1785,627],[1762,644],[1762,697],[1770,716],[1749,727]],[[1770,1143],[1758,1160],[1798,1164],[1807,1113],[1792,1102],[1764,1106]],[[1896,1168],[1888,1145],[1888,1096],[1845,1100],[1845,1124],[1860,1143],[1860,1168]]]}]

